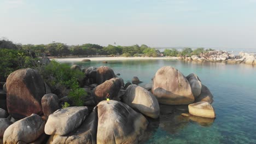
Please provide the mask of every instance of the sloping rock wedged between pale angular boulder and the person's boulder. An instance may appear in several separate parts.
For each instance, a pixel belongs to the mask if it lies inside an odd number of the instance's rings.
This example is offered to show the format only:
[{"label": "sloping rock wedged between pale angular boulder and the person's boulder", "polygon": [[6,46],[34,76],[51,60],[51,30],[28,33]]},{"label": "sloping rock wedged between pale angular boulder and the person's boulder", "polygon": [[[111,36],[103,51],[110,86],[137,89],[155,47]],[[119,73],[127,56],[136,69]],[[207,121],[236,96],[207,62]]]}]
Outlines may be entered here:
[{"label": "sloping rock wedged between pale angular boulder and the person's boulder", "polygon": [[47,143],[95,143],[97,136],[98,114],[97,107],[85,119],[83,124],[76,130],[65,136],[51,135]]}]

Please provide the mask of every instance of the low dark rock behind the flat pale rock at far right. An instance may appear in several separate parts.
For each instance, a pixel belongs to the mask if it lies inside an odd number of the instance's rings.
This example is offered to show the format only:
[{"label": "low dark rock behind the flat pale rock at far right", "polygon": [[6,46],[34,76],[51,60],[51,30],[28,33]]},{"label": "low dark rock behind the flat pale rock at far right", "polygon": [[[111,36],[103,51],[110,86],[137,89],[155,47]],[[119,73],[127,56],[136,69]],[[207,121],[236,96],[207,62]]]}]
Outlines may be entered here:
[{"label": "low dark rock behind the flat pale rock at far right", "polygon": [[210,104],[213,102],[213,95],[205,85],[202,85],[201,94],[195,99],[195,103],[199,101],[206,101]]}]

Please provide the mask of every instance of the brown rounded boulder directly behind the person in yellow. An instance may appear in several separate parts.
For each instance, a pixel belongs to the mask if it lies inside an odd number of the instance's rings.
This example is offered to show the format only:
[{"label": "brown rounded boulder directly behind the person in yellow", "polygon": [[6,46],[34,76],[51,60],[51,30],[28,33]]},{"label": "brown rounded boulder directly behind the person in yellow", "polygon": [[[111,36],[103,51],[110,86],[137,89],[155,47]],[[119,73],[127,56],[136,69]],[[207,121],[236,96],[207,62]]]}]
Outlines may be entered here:
[{"label": "brown rounded boulder directly behind the person in yellow", "polygon": [[121,80],[118,78],[113,78],[110,80],[105,81],[101,85],[98,85],[93,90],[93,95],[96,99],[97,103],[100,103],[102,100],[106,100],[106,96],[109,93],[109,99],[119,100],[118,98],[118,92],[121,89]]}]

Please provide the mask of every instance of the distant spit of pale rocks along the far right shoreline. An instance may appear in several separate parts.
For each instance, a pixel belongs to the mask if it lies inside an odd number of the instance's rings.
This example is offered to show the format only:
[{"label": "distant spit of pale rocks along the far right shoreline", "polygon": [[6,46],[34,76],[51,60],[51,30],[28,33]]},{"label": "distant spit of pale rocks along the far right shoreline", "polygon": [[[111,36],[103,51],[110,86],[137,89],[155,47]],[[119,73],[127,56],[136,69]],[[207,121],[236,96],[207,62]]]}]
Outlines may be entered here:
[{"label": "distant spit of pale rocks along the far right shoreline", "polygon": [[228,63],[246,63],[256,64],[254,53],[240,52],[238,56],[225,51],[208,51],[201,53],[200,56],[182,57],[185,61],[211,61],[211,62],[228,62]]}]

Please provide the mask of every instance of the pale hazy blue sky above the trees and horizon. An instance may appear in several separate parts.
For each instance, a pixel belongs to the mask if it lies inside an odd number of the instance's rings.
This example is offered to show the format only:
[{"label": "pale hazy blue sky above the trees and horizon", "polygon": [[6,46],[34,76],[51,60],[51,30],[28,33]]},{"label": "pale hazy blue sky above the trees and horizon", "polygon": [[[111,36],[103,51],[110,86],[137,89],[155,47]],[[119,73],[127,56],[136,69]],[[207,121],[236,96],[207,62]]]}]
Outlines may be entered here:
[{"label": "pale hazy blue sky above the trees and horizon", "polygon": [[0,0],[0,38],[256,49],[256,0]]}]

